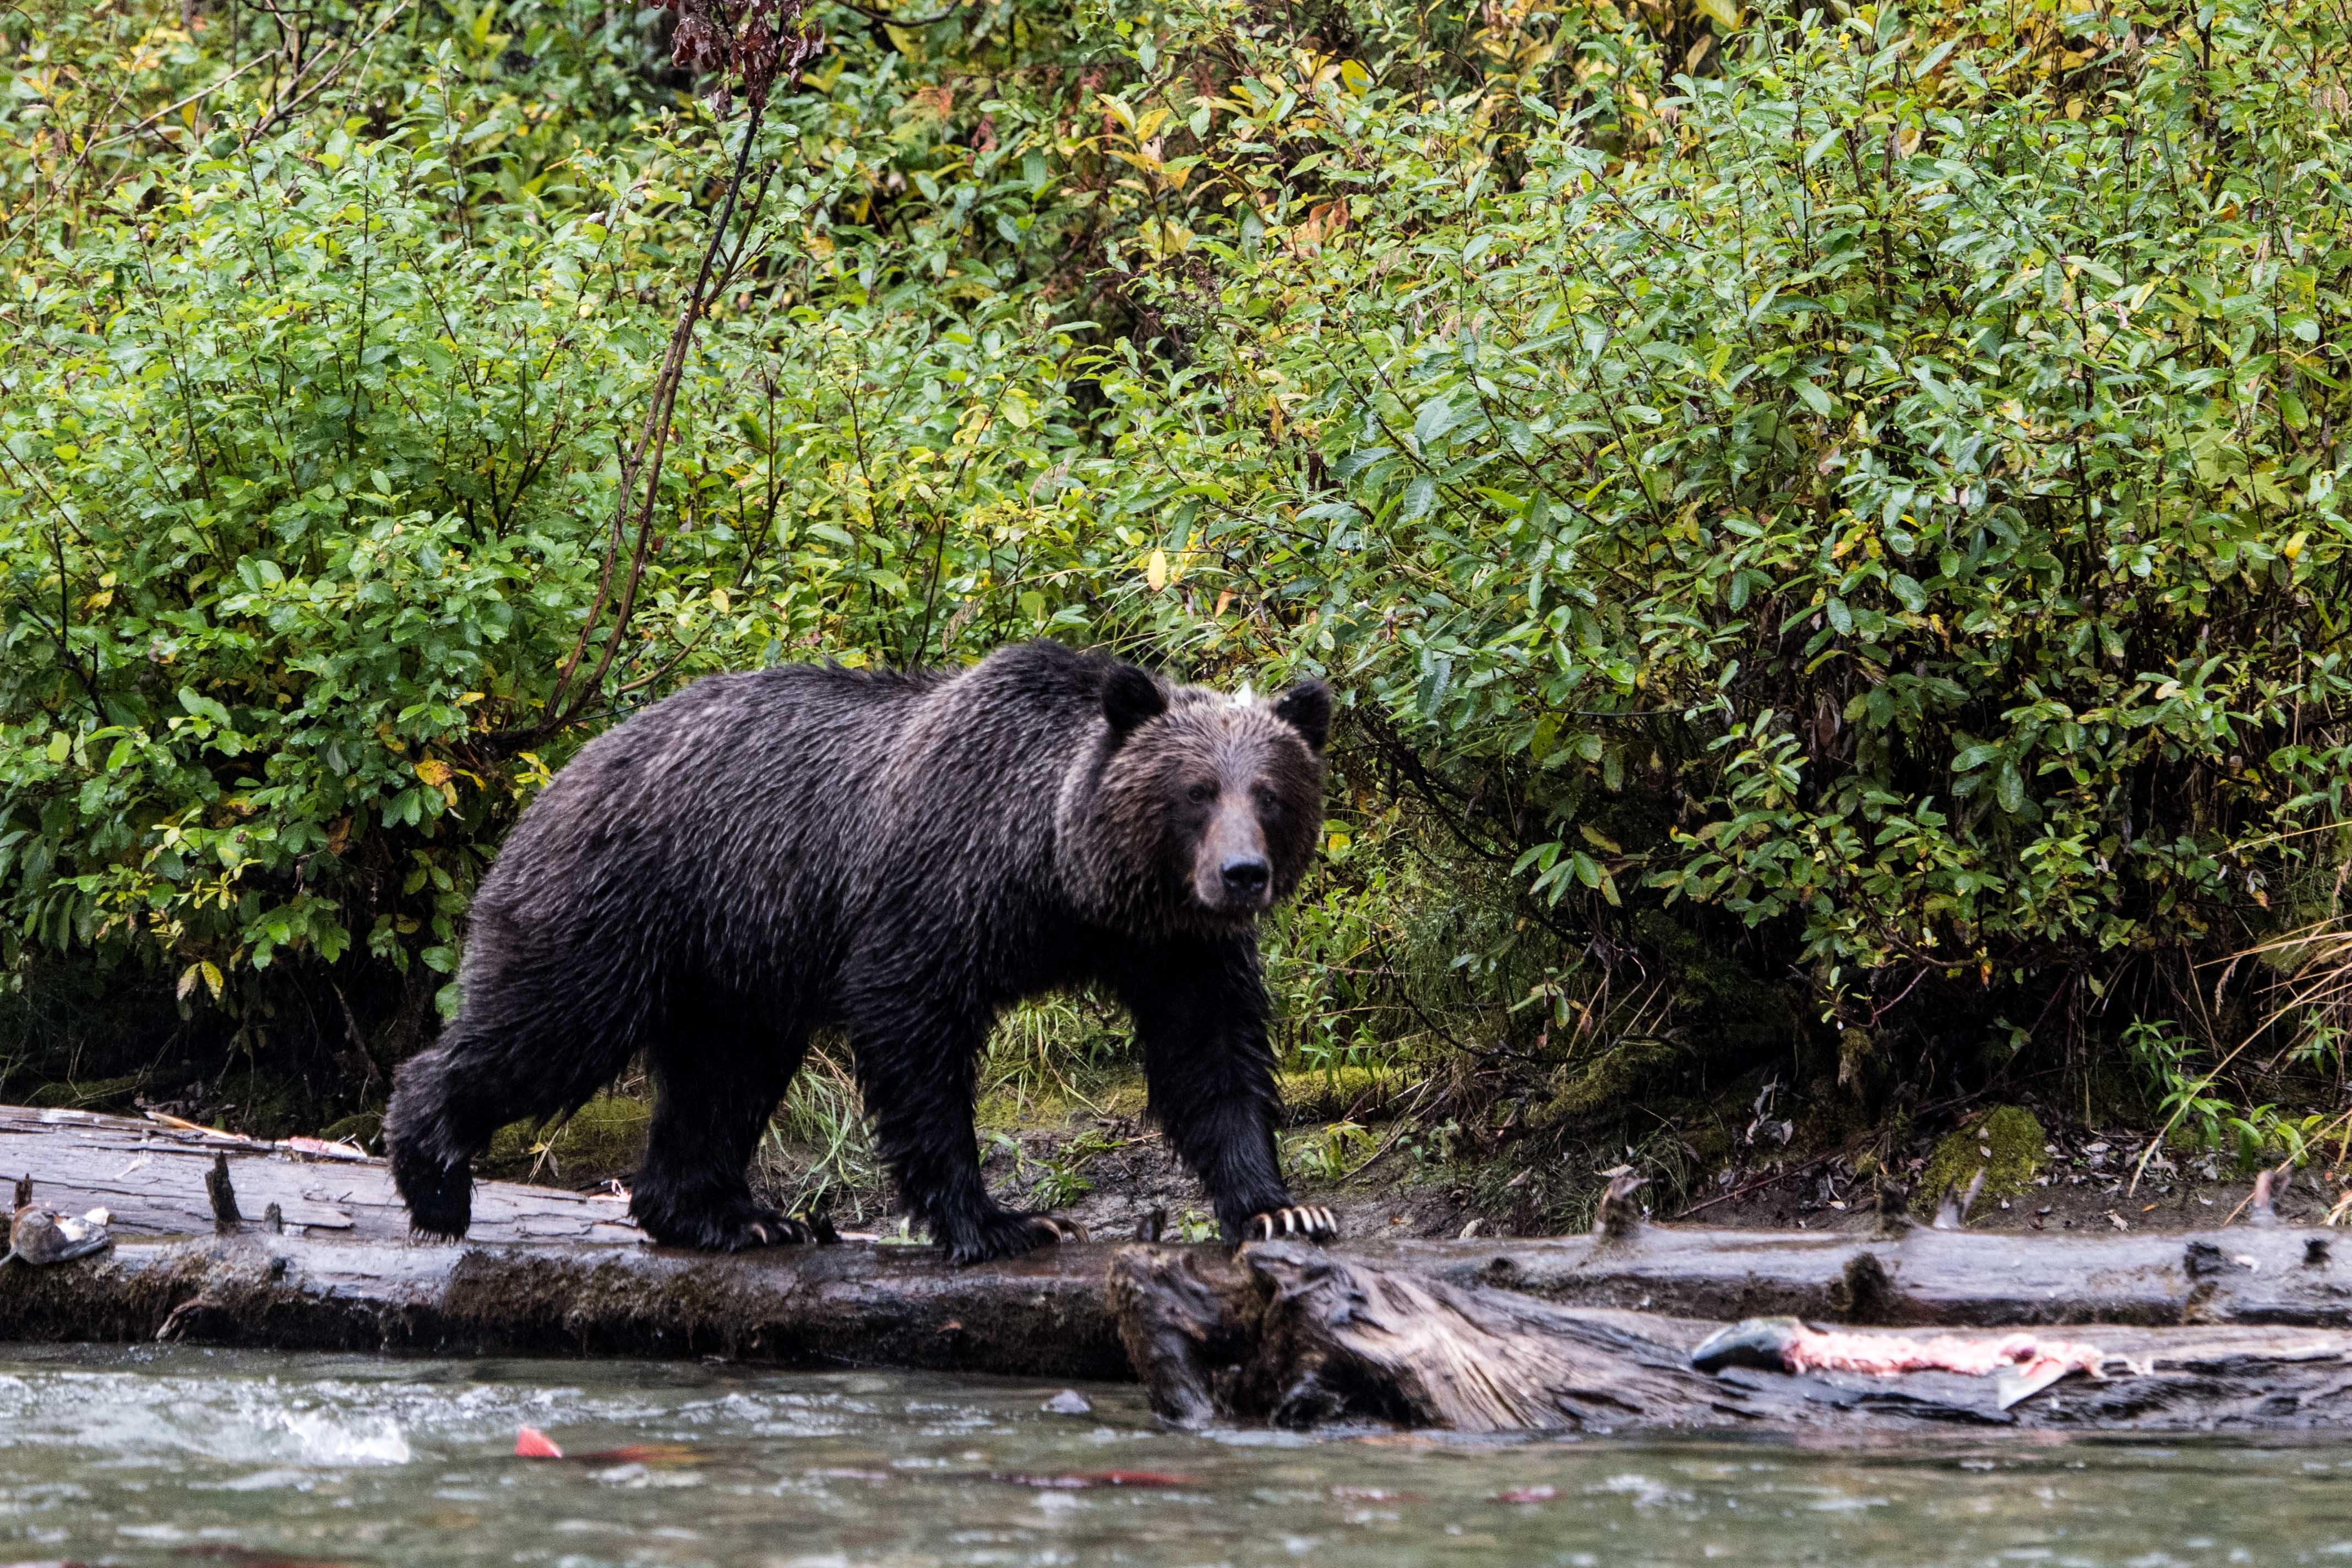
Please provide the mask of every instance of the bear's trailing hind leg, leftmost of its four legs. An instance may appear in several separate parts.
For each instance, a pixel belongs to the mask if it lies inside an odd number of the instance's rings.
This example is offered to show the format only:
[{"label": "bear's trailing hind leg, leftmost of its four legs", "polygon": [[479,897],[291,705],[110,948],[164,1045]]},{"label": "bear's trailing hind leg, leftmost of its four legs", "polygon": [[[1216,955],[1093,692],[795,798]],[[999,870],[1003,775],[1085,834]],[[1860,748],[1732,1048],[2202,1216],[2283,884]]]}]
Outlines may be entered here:
[{"label": "bear's trailing hind leg, leftmost of its four legs", "polygon": [[409,1206],[409,1225],[456,1241],[473,1222],[473,1157],[510,1121],[576,1112],[612,1081],[628,1058],[590,1053],[532,1063],[522,1053],[475,1037],[463,1020],[430,1051],[419,1051],[393,1079],[383,1112],[383,1143],[393,1185]]}]

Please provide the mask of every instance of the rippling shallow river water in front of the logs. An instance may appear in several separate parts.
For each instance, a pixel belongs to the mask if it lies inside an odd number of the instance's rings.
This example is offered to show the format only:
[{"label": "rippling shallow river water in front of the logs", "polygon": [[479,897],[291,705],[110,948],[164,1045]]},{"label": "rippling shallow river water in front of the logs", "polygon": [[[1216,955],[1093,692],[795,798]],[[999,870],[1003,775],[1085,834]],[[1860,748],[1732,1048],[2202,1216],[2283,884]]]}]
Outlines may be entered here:
[{"label": "rippling shallow river water in front of the logs", "polygon": [[[0,1563],[2352,1559],[2340,1443],[1195,1436],[1157,1429],[1129,1387],[1077,1389],[1084,1413],[1044,1410],[1056,1394],[722,1363],[0,1347]],[[520,1427],[574,1458],[515,1458]]]}]

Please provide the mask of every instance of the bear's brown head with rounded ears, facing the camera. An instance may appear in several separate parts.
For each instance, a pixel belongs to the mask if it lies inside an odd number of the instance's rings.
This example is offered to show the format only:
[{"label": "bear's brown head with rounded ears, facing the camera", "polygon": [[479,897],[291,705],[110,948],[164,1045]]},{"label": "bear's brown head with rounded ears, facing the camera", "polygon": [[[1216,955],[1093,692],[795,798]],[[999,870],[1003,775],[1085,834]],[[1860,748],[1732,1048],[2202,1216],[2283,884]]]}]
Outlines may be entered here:
[{"label": "bear's brown head with rounded ears, facing the camera", "polygon": [[1298,886],[1322,837],[1329,686],[1225,696],[1122,663],[1103,679],[1103,724],[1089,799],[1073,802],[1073,870],[1096,917],[1230,931]]}]

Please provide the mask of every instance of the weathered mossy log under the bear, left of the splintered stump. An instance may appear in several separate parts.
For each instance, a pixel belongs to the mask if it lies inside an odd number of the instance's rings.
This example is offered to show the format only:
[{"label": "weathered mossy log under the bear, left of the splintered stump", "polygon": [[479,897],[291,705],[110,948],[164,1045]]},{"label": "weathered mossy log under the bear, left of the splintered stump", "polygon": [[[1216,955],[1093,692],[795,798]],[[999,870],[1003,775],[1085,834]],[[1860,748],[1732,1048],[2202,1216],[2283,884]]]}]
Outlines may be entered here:
[{"label": "weathered mossy log under the bear, left of the splintered stump", "polygon": [[[242,1222],[216,1220],[226,1159]],[[113,1211],[111,1253],[0,1269],[0,1340],[275,1349],[729,1354],[1127,1378],[1108,1248],[950,1269],[927,1246],[713,1258],[647,1246],[626,1204],[482,1182],[463,1246],[412,1241],[383,1161],[89,1112],[0,1107],[0,1180]],[[275,1208],[282,1232],[252,1215]]]}]

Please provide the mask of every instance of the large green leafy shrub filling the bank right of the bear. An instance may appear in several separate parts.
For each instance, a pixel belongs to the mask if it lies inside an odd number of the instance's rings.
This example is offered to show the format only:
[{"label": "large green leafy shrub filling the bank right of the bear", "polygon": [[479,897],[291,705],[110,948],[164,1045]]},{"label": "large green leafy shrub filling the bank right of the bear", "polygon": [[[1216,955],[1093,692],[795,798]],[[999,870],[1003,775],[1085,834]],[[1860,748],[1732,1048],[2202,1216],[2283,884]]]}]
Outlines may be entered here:
[{"label": "large green leafy shrub filling the bank right of the bear", "polygon": [[2343,26],[2032,12],[2046,80],[2004,14],[1759,16],[1656,101],[1588,35],[1573,113],[1244,78],[1230,179],[1312,153],[1148,275],[1221,388],[1124,449],[1167,548],[1536,893],[1790,931],[1846,1023],[2343,853]]}]

